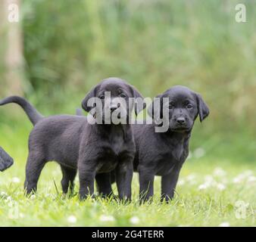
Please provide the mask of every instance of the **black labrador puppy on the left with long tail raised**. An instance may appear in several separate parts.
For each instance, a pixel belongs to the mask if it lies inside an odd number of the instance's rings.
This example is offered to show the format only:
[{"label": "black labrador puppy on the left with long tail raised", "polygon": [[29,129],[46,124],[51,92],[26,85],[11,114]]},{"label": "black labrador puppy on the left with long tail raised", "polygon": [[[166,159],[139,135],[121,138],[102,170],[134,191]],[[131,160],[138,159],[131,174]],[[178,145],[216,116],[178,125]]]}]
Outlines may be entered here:
[{"label": "black labrador puppy on the left with long tail raised", "polygon": [[[108,107],[105,104],[105,92],[111,93]],[[69,185],[71,190],[73,189],[73,180],[78,169],[81,199],[94,194],[95,180],[99,193],[105,195],[106,186],[110,184],[106,172],[114,170],[120,199],[130,200],[133,159],[136,152],[133,129],[129,124],[106,124],[105,119],[103,120],[106,109],[112,112],[120,107],[114,102],[120,97],[126,101],[126,110],[123,113],[128,117],[133,110],[131,105],[134,106],[134,102],[130,104],[128,99],[142,98],[142,95],[132,85],[118,78],[104,79],[86,95],[82,102],[86,112],[94,107],[89,105],[91,98],[101,100],[101,124],[89,123],[86,116],[43,117],[28,101],[17,96],[0,101],[0,105],[19,104],[34,125],[30,133],[24,185],[27,194],[36,191],[39,175],[45,163],[55,160],[61,165],[61,185],[64,193],[67,193]],[[98,116],[95,119],[98,119]]]}]

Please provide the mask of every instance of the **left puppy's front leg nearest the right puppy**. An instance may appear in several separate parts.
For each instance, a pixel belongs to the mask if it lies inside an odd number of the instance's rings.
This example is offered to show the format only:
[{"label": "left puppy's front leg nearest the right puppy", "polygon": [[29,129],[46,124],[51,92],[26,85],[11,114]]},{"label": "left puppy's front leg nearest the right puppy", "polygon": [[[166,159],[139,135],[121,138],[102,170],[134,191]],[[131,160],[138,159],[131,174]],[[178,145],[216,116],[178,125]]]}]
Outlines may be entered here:
[{"label": "left puppy's front leg nearest the right puppy", "polygon": [[121,161],[115,169],[117,191],[121,200],[131,200],[133,180],[133,160]]}]

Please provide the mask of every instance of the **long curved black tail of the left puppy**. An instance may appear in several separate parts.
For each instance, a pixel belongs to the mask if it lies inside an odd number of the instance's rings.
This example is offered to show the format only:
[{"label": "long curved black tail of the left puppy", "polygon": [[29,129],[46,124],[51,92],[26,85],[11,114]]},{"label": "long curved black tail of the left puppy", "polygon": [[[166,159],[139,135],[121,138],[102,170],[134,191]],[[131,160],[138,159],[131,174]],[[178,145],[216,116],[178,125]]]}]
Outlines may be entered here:
[{"label": "long curved black tail of the left puppy", "polygon": [[25,113],[27,113],[27,116],[29,117],[31,123],[33,123],[33,126],[35,126],[36,123],[43,118],[43,116],[36,110],[36,108],[33,107],[26,99],[18,96],[11,96],[2,99],[0,101],[0,106],[11,103],[19,104],[20,107],[23,108]]}]

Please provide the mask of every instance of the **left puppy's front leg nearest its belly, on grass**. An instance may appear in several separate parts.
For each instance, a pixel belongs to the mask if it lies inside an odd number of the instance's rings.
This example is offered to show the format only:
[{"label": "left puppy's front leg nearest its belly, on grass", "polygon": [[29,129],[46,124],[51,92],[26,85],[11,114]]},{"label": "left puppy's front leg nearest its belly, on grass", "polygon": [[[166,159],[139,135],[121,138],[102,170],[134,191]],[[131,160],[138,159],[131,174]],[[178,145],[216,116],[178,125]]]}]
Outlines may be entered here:
[{"label": "left puppy's front leg nearest its belly, on grass", "polygon": [[89,195],[94,195],[94,180],[96,174],[95,162],[80,163],[78,172],[80,180],[80,200],[84,200]]}]

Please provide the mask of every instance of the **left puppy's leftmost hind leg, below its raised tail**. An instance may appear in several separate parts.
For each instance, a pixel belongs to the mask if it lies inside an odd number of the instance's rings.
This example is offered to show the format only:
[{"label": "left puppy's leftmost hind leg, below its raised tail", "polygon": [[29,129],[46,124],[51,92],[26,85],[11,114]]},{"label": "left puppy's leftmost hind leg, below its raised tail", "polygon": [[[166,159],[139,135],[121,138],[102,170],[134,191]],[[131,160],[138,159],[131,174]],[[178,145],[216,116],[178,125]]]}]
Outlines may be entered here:
[{"label": "left puppy's leftmost hind leg, below its raised tail", "polygon": [[45,158],[41,152],[30,152],[27,158],[26,165],[26,180],[24,183],[24,189],[26,194],[36,192],[37,182],[42,172],[42,168],[45,166]]}]

